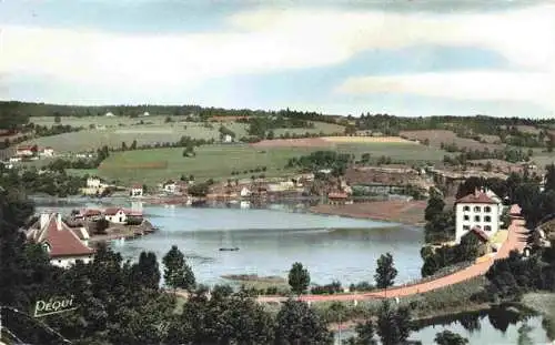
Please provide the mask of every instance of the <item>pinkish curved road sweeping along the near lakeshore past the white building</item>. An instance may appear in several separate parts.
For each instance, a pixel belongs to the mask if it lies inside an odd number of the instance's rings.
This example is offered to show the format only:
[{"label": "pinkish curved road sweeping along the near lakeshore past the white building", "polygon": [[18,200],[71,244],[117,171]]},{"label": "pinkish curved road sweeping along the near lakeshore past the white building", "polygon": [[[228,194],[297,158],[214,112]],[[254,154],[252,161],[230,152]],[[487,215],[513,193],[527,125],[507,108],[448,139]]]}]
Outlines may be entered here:
[{"label": "pinkish curved road sweeping along the near lakeshore past the white building", "polygon": [[[513,210],[517,211],[513,212]],[[511,213],[519,213],[519,207],[513,205]],[[387,291],[382,290],[370,293],[353,293],[353,294],[341,294],[341,295],[303,295],[300,296],[299,300],[306,302],[309,301],[332,302],[332,301],[363,301],[363,300],[384,298],[384,297],[403,297],[461,283],[470,278],[476,277],[478,275],[484,275],[487,272],[487,270],[490,270],[490,267],[493,265],[494,260],[507,257],[511,251],[517,250],[522,252],[524,246],[526,245],[526,241],[523,239],[525,233],[526,233],[525,221],[521,217],[516,216],[512,217],[511,225],[508,226],[507,240],[503,243],[503,245],[497,251],[495,256],[492,256],[490,260],[475,263],[474,265],[468,266],[464,270],[457,271],[446,276],[438,277],[433,281],[423,282],[420,284],[408,285],[408,286],[391,287],[387,288]],[[284,302],[286,300],[287,297],[283,296],[260,296],[258,298],[258,301],[261,303],[279,303],[279,302]]]}]

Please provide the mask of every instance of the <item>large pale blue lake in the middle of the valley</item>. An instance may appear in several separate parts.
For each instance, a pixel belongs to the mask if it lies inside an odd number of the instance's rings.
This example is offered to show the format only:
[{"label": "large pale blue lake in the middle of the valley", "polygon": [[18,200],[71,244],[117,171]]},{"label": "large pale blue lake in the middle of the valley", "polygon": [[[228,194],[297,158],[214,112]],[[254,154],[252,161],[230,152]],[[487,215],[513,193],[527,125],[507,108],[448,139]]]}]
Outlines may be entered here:
[{"label": "large pale blue lake in the middle of the valley", "polygon": [[[43,205],[40,209],[52,205]],[[58,205],[69,212],[81,205]],[[152,251],[159,258],[171,245],[188,256],[199,282],[224,282],[226,274],[280,275],[292,263],[307,266],[314,283],[340,280],[344,285],[373,281],[376,258],[391,252],[397,281],[420,277],[422,230],[394,223],[315,215],[273,205],[263,210],[236,207],[144,206],[145,217],[160,231],[120,244],[114,250],[137,258]],[[220,247],[239,247],[220,252]]]}]

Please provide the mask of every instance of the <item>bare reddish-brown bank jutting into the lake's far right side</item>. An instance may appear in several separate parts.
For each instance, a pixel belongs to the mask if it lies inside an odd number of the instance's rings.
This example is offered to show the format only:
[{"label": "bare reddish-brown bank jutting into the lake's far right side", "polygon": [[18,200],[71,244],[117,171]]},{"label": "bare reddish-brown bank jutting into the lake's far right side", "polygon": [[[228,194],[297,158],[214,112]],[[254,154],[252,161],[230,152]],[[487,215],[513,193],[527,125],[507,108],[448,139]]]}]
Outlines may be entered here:
[{"label": "bare reddish-brown bank jutting into the lake's far right side", "polygon": [[424,226],[425,209],[426,201],[385,200],[346,205],[320,204],[309,210],[316,214],[340,215]]}]

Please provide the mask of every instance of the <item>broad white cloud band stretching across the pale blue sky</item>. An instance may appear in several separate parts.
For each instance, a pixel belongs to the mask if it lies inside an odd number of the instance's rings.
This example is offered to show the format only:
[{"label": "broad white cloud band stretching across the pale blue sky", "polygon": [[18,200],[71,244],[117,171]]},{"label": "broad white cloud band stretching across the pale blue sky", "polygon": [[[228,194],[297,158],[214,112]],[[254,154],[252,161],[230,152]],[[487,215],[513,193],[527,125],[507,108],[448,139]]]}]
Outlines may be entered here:
[{"label": "broad white cloud band stretching across the pale blue sky", "polygon": [[[555,80],[553,18],[554,6],[442,16],[269,9],[234,14],[229,30],[205,33],[131,35],[3,26],[0,74],[49,75],[118,90],[150,88],[163,94],[208,78],[331,65],[369,49],[444,44],[494,50],[514,71],[350,79],[340,90],[553,104],[546,101],[554,88],[546,80]],[[481,78],[472,90],[471,77]],[[443,90],[446,85],[450,92]]]}]

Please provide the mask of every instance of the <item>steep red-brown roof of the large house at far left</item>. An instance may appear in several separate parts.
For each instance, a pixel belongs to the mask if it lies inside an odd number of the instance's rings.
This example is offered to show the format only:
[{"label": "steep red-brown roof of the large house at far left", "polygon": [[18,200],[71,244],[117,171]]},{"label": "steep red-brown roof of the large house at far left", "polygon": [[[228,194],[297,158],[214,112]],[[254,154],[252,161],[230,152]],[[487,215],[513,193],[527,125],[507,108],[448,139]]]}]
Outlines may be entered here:
[{"label": "steep red-brown roof of the large house at far left", "polygon": [[28,240],[36,243],[47,243],[50,247],[50,257],[81,256],[94,253],[82,240],[88,240],[89,233],[84,229],[71,229],[64,222],[58,223],[56,214],[51,214],[44,227],[31,231]]}]

